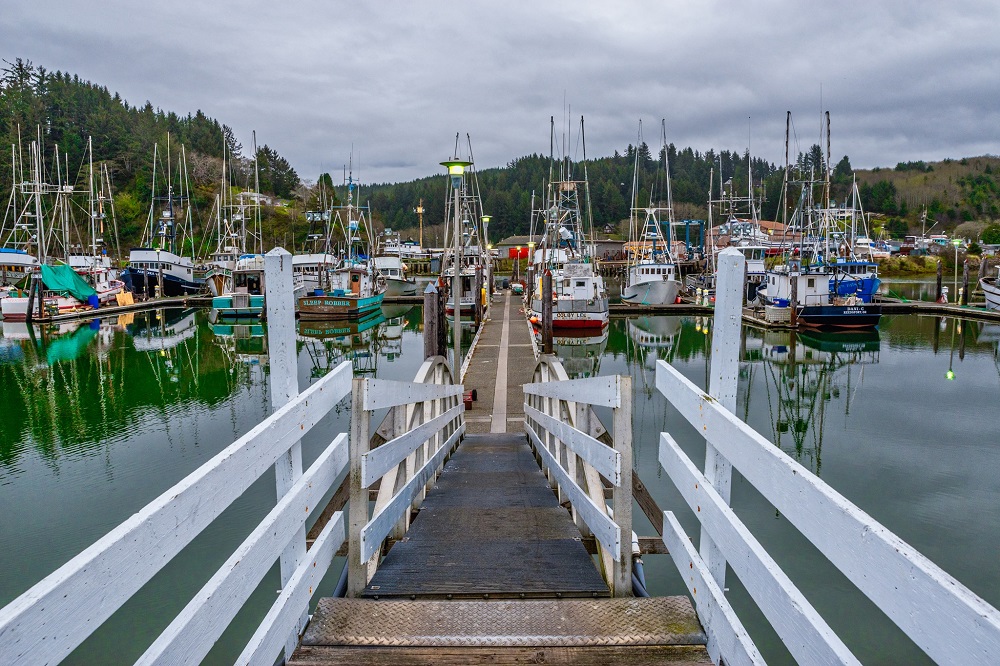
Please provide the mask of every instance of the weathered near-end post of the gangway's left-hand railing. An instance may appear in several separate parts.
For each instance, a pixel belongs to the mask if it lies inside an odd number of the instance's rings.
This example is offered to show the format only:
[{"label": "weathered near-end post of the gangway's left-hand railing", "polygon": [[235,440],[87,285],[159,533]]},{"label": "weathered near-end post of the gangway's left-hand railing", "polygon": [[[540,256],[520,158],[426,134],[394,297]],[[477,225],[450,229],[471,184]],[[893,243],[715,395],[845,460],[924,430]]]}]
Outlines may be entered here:
[{"label": "weathered near-end post of the gangway's left-hand railing", "polygon": [[368,563],[361,560],[361,530],[368,522],[368,488],[361,481],[361,456],[368,453],[371,414],[365,411],[364,379],[355,378],[351,386],[351,438],[349,442],[351,496],[348,516],[350,535],[347,545],[347,595],[359,597],[368,585]]}]

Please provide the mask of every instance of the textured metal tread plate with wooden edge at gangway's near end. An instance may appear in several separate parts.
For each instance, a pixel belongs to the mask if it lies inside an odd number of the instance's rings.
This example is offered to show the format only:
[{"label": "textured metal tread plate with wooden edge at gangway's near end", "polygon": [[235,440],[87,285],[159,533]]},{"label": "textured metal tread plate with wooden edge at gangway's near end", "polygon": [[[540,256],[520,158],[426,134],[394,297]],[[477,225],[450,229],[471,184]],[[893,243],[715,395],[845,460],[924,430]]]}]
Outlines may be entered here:
[{"label": "textured metal tread plate with wooden edge at gangway's near end", "polygon": [[289,664],[707,664],[705,641],[686,597],[325,598]]}]

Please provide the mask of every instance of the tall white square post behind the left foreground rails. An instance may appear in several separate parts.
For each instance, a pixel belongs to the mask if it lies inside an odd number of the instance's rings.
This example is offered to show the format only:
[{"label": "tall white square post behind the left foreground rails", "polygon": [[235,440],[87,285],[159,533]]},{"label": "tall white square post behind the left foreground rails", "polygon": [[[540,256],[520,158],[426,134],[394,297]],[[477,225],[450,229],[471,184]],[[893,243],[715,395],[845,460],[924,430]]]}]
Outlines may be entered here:
[{"label": "tall white square post behind the left foreground rails", "polygon": [[[264,283],[268,286],[267,345],[271,359],[271,408],[283,407],[299,394],[298,363],[295,352],[295,296],[292,285],[292,255],[277,247],[264,255]],[[302,476],[302,443],[297,441],[274,464],[275,488],[280,500]],[[281,586],[284,587],[306,557],[305,523],[281,554]],[[308,608],[295,635],[285,643],[285,657],[291,657],[298,636],[305,628]]]}]

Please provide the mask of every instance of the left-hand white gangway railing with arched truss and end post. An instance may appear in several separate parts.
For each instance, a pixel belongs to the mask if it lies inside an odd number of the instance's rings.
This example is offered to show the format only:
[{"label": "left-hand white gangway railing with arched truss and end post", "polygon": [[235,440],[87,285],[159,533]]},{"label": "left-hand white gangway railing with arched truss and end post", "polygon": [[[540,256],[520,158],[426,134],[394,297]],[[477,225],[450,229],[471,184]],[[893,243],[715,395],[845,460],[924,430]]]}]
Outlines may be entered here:
[{"label": "left-hand white gangway railing with arched truss and end post", "polygon": [[[388,441],[369,450],[372,413],[390,408]],[[386,537],[402,537],[410,509],[465,434],[462,385],[447,359],[424,361],[414,382],[355,379],[351,411],[351,500],[348,594],[358,596],[374,575]],[[369,488],[379,481],[374,512]]]}]

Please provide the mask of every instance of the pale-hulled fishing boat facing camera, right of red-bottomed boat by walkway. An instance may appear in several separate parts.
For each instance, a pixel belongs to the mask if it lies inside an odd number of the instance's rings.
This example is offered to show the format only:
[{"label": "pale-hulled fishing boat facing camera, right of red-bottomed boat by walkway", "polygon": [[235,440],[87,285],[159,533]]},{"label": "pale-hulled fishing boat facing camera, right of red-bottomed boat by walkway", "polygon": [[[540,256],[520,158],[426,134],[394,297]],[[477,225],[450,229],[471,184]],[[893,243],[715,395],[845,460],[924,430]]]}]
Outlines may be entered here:
[{"label": "pale-hulled fishing boat facing camera, right of red-bottomed boat by walkway", "polygon": [[[673,235],[674,209],[670,191],[670,164],[666,150],[666,121],[663,121],[663,171],[649,187],[649,204],[637,206],[639,196],[639,150],[643,145],[642,123],[635,150],[635,167],[632,172],[632,207],[629,216],[628,270],[622,286],[622,300],[640,305],[666,305],[675,303],[681,290],[677,261],[670,251]],[[665,189],[658,191],[663,182]],[[658,197],[665,199],[659,200]],[[640,222],[640,218],[642,221]],[[666,233],[664,233],[666,229]]]}]

